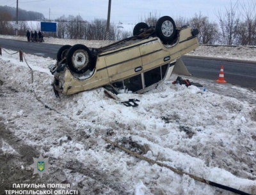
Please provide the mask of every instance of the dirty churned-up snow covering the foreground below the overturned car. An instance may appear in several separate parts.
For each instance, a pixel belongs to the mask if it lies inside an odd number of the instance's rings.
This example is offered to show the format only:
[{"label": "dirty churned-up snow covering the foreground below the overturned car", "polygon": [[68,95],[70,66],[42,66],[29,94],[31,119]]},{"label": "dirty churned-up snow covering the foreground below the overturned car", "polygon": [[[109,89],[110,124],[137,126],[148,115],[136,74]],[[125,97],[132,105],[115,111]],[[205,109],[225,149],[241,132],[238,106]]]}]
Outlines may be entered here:
[{"label": "dirty churned-up snow covering the foreground below the overturned car", "polygon": [[[173,75],[146,94],[119,94],[115,100],[99,88],[58,100],[47,70],[55,61],[25,55],[35,70],[33,85],[18,55],[0,57],[0,164],[15,175],[8,170],[0,177],[0,192],[14,182],[43,181],[72,184],[81,194],[231,194],[132,157],[104,136],[150,159],[256,194],[255,91],[188,77],[204,84],[204,92],[172,85]],[[32,89],[61,115],[38,102]],[[120,103],[129,98],[140,99],[139,106]],[[51,175],[41,180],[22,158],[36,154],[52,164]]]}]

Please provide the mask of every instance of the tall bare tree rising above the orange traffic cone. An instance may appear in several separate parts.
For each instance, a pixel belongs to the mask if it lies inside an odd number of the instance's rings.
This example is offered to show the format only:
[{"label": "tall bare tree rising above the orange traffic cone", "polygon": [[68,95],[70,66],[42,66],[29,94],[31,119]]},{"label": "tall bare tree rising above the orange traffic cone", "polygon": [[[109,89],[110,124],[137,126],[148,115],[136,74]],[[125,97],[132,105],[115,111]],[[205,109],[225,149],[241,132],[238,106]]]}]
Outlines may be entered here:
[{"label": "tall bare tree rising above the orange traffic cone", "polygon": [[237,38],[237,27],[239,24],[238,15],[238,0],[233,5],[230,1],[230,6],[225,6],[225,10],[218,10],[216,17],[218,17],[221,29],[221,43],[225,45],[233,45]]}]

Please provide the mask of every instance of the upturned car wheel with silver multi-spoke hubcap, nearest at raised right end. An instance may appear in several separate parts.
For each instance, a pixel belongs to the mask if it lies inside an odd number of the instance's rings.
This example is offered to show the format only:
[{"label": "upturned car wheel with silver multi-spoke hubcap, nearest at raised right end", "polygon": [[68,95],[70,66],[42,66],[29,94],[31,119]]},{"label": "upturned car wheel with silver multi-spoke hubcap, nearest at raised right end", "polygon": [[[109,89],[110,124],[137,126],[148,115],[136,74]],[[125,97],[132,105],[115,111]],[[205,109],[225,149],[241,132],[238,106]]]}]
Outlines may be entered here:
[{"label": "upturned car wheel with silver multi-spoke hubcap, nearest at raised right end", "polygon": [[164,44],[170,44],[177,37],[177,29],[173,18],[164,16],[156,22],[156,35]]}]

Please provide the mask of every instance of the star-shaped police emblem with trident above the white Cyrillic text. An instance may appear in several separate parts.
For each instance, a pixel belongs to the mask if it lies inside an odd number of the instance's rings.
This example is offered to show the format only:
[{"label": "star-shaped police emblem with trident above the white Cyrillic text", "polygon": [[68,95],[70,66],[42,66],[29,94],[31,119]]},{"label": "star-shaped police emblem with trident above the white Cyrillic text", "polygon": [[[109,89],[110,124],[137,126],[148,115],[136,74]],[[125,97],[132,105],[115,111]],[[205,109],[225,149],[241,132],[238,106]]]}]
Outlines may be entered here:
[{"label": "star-shaped police emblem with trident above the white Cyrillic text", "polygon": [[51,167],[51,165],[48,163],[48,158],[44,159],[42,154],[40,154],[38,159],[33,158],[33,160],[34,160],[34,163],[30,165],[31,168],[34,169],[33,175],[38,173],[38,175],[42,178],[44,173],[49,174],[49,168]]}]

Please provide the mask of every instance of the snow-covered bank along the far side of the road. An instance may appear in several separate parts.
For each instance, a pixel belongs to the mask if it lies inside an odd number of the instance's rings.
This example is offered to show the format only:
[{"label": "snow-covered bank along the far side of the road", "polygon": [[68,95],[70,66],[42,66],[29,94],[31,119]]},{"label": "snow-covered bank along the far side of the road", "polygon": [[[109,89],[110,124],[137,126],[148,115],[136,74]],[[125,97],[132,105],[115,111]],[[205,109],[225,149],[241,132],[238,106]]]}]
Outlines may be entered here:
[{"label": "snow-covered bank along the far side of the road", "polygon": [[[0,35],[0,38],[26,41],[24,36],[7,36]],[[87,47],[103,47],[114,43],[115,41],[88,41],[88,40],[63,40],[58,38],[44,38],[45,43],[58,45],[75,45],[84,44]],[[189,52],[187,55],[204,56],[204,57],[220,57],[225,59],[241,59],[248,61],[256,61],[256,48],[239,46],[239,47],[212,47],[200,45],[195,51]]]}]

